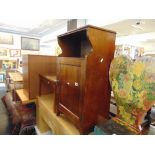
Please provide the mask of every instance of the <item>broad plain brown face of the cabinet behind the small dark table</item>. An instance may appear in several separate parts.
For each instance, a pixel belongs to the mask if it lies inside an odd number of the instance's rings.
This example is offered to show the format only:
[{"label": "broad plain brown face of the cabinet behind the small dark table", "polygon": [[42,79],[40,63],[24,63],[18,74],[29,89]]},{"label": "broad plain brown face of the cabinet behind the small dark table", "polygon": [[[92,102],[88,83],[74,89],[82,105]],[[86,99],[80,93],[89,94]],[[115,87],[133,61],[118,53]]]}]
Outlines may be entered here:
[{"label": "broad plain brown face of the cabinet behind the small dark table", "polygon": [[29,93],[30,99],[39,94],[39,74],[56,75],[55,56],[29,56]]}]

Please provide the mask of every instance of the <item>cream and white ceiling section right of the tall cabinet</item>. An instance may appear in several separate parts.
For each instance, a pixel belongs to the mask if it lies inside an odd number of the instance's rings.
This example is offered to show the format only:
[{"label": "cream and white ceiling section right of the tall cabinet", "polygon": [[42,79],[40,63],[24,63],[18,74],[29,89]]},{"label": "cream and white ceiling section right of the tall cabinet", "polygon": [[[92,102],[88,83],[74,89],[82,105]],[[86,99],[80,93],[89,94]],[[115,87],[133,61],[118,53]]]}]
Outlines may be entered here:
[{"label": "cream and white ceiling section right of the tall cabinet", "polygon": [[155,43],[155,19],[127,19],[103,27],[117,32],[116,44]]}]

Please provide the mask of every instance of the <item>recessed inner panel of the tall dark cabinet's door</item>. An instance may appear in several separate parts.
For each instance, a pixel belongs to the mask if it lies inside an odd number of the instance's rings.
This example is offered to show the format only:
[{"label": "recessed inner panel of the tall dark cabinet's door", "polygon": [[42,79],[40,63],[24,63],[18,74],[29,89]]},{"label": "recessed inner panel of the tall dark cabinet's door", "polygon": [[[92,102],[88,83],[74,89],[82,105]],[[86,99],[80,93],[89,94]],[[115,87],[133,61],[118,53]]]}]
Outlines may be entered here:
[{"label": "recessed inner panel of the tall dark cabinet's door", "polygon": [[59,102],[77,116],[79,115],[80,73],[79,66],[60,65]]}]

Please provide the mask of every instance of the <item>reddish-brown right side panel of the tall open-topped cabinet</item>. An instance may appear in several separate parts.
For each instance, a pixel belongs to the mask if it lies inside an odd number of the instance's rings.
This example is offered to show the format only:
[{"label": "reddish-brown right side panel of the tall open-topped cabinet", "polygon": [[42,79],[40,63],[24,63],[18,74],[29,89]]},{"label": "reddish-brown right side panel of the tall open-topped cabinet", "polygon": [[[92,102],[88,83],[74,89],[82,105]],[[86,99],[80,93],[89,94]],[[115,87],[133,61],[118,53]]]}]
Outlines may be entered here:
[{"label": "reddish-brown right side panel of the tall open-topped cabinet", "polygon": [[[86,69],[85,116],[97,121],[108,118],[110,107],[109,68],[115,51],[115,34],[90,29],[93,52],[88,56]],[[89,111],[87,110],[89,108]],[[88,121],[87,121],[88,122]]]}]

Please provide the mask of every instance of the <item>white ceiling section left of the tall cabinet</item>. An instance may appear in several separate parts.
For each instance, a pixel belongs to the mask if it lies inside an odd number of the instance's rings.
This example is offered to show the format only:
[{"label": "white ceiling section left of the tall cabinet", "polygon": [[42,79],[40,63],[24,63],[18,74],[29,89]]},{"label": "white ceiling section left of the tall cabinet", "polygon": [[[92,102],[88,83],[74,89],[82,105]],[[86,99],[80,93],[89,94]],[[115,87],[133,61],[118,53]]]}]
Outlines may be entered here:
[{"label": "white ceiling section left of the tall cabinet", "polygon": [[42,37],[67,24],[67,19],[48,20],[0,20],[0,32],[8,32],[33,37]]}]

